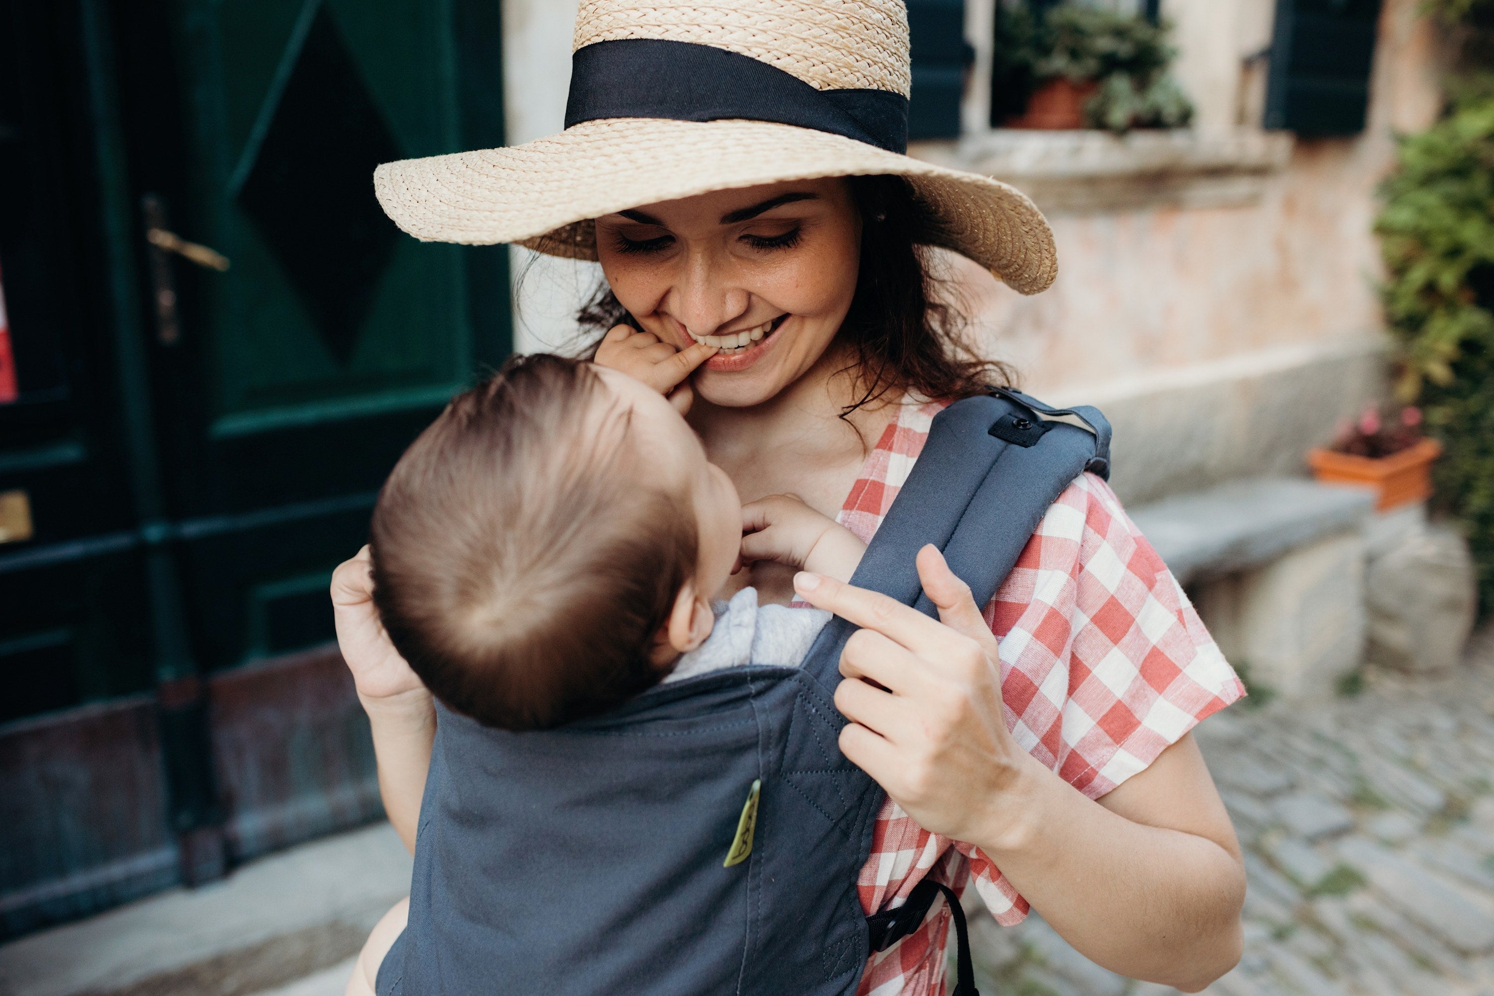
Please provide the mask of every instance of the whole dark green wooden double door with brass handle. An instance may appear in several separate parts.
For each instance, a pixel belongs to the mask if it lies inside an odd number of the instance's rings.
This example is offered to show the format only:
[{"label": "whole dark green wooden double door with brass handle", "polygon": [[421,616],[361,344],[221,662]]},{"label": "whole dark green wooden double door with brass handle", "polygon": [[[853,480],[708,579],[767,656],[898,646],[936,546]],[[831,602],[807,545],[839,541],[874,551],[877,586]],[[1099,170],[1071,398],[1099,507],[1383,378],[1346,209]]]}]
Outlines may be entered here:
[{"label": "whole dark green wooden double door with brass handle", "polygon": [[0,0],[0,936],[378,812],[327,579],[509,305],[372,170],[502,145],[499,52],[496,0]]}]

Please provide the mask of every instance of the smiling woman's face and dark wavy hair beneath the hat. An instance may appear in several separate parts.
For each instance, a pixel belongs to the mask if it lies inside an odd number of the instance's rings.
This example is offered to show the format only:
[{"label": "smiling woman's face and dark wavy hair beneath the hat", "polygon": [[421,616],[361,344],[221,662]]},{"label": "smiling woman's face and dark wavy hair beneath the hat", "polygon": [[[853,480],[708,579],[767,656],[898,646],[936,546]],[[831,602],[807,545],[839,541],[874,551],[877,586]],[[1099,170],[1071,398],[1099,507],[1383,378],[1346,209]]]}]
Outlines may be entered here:
[{"label": "smiling woman's face and dark wavy hair beneath the hat", "polygon": [[[887,391],[967,397],[1008,384],[1001,363],[965,345],[956,291],[929,264],[926,243],[935,230],[937,221],[898,176],[798,181],[719,191],[653,212],[620,211],[596,221],[607,282],[578,318],[598,333],[627,324],[680,349],[692,342],[719,349],[693,379],[717,405],[771,397],[832,340],[832,358],[843,360],[855,388],[847,411]],[[687,266],[692,255],[699,279],[735,279],[754,300],[748,312],[723,320],[710,296],[692,303],[687,288],[662,290],[669,267]],[[716,272],[726,263],[732,276]],[[850,275],[855,282],[847,282]],[[769,358],[784,339],[795,342]],[[599,345],[587,352],[595,355]],[[756,390],[738,378],[711,376],[759,363]]]}]

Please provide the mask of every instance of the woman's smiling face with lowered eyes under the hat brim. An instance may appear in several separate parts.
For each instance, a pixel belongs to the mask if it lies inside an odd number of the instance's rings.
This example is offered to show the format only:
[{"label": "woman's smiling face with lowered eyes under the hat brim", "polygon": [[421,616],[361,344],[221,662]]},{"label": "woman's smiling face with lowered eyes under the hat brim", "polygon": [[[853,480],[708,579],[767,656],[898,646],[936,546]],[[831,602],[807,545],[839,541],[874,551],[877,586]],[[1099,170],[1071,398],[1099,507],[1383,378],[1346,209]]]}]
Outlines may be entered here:
[{"label": "woman's smiling face with lowered eyes under the hat brim", "polygon": [[825,355],[856,293],[861,218],[844,179],[790,181],[596,220],[607,282],[644,330],[722,346],[695,375],[714,405],[775,396]]}]

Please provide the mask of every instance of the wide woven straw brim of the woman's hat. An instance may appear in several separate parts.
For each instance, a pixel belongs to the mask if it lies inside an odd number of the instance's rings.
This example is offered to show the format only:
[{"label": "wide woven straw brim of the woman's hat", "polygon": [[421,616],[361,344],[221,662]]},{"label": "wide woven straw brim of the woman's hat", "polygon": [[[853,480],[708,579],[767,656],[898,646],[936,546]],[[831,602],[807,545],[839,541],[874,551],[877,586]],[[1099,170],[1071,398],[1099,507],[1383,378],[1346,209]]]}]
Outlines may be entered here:
[{"label": "wide woven straw brim of the woman's hat", "polygon": [[527,145],[385,163],[379,203],[424,242],[517,242],[596,258],[593,218],[714,190],[820,176],[907,176],[932,212],[929,242],[982,264],[1023,294],[1058,273],[1053,233],[1007,184],[864,142],[766,121],[587,121]]}]

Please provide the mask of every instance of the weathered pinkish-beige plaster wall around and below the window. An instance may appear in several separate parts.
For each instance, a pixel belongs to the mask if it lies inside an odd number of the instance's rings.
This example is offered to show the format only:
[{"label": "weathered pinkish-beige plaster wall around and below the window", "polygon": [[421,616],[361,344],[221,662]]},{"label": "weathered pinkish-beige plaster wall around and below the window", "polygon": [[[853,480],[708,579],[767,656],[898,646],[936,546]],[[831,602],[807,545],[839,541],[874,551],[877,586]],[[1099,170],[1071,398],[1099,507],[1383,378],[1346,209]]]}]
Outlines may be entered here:
[{"label": "weathered pinkish-beige plaster wall around and below the window", "polygon": [[[1249,90],[1270,6],[1165,4],[1198,133],[1258,124]],[[947,257],[983,354],[1034,393],[1101,405],[1116,423],[1123,499],[1300,470],[1306,446],[1383,393],[1374,190],[1394,136],[1436,118],[1445,66],[1416,7],[1385,0],[1366,131],[1298,139],[1255,203],[1050,212],[1059,276],[1035,297]]]}]

